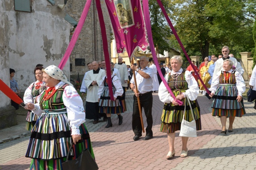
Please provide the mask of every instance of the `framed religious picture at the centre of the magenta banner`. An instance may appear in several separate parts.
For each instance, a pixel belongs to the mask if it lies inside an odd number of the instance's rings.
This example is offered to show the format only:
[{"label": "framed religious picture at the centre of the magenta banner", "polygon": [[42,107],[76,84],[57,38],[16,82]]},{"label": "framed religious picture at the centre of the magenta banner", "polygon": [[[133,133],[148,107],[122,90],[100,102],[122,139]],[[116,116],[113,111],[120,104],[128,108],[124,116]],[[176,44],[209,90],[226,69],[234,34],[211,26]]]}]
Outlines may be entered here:
[{"label": "framed religious picture at the centre of the magenta banner", "polygon": [[115,8],[121,28],[128,28],[134,25],[134,16],[130,0],[115,0]]}]

